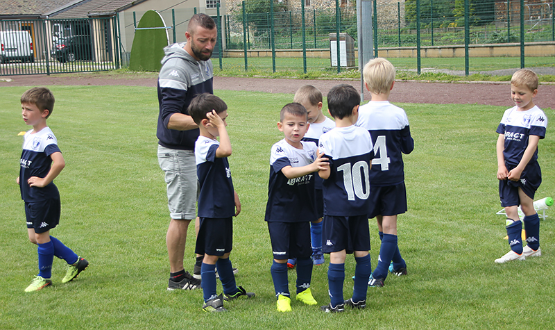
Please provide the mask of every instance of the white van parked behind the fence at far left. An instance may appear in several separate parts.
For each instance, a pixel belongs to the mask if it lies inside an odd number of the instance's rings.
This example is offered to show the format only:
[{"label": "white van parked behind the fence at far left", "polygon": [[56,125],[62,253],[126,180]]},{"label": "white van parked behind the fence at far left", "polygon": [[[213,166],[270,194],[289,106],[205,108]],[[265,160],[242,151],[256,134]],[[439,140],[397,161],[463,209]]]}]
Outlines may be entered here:
[{"label": "white van parked behind the fence at far left", "polygon": [[33,42],[28,31],[0,31],[0,63],[10,60],[34,62]]}]

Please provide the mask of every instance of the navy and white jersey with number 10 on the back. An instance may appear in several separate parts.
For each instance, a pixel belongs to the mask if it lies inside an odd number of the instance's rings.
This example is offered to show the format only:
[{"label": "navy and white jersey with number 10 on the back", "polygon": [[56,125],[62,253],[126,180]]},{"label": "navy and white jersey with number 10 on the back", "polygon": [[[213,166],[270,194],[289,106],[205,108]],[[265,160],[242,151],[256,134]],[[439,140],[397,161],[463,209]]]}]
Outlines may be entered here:
[{"label": "navy and white jersey with number 10 on the back", "polygon": [[320,153],[329,158],[330,177],[324,180],[324,214],[367,215],[370,211],[370,162],[374,158],[370,133],[361,127],[336,127],[320,137]]}]

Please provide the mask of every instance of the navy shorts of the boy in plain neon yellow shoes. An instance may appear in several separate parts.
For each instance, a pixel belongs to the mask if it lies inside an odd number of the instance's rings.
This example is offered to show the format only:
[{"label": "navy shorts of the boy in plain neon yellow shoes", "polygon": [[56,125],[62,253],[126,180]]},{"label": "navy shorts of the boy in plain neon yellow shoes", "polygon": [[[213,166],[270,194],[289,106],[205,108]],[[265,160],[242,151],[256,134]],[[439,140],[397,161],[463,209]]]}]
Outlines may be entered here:
[{"label": "navy shorts of the boy in plain neon yellow shoes", "polygon": [[312,255],[310,222],[268,222],[268,231],[274,259],[309,258]]}]

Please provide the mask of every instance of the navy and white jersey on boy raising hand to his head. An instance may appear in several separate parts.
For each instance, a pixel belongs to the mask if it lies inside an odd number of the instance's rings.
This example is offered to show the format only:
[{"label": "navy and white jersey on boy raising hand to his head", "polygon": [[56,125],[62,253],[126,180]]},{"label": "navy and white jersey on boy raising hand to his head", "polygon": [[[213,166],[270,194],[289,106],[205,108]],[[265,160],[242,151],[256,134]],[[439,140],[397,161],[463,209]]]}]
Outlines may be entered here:
[{"label": "navy and white jersey on boy raising hand to his head", "polygon": [[199,136],[195,143],[196,175],[200,185],[198,216],[223,218],[235,215],[235,195],[228,158],[216,158],[220,142]]}]

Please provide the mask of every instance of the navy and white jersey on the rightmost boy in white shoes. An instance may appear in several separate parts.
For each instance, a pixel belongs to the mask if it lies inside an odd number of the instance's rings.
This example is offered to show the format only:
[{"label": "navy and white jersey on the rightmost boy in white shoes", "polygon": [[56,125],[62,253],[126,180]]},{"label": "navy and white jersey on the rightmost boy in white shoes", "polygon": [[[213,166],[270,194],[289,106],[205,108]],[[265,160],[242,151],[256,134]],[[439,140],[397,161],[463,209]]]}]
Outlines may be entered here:
[{"label": "navy and white jersey on the rightmost boy in white shoes", "polygon": [[[503,157],[509,166],[516,166],[520,163],[524,150],[528,147],[530,135],[538,135],[540,139],[545,138],[547,129],[547,117],[538,108],[526,111],[518,111],[517,106],[505,110],[501,123],[497,126],[497,133],[505,135],[505,149]],[[538,149],[533,153],[530,163],[538,160]]]}]

